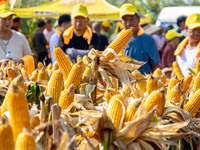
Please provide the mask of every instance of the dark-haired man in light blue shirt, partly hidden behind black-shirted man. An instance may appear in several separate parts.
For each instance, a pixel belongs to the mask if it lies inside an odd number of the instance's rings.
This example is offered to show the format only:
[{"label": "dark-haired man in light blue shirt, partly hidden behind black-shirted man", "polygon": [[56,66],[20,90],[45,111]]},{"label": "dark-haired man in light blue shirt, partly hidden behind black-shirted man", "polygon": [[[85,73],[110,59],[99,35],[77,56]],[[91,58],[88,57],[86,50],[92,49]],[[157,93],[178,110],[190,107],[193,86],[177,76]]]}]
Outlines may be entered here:
[{"label": "dark-haired man in light blue shirt, partly hidden behind black-shirted man", "polygon": [[56,32],[51,36],[49,40],[52,64],[54,64],[56,61],[53,54],[54,46],[57,46],[60,34],[71,26],[71,17],[69,15],[61,15],[58,18],[58,25],[59,27],[56,28]]}]

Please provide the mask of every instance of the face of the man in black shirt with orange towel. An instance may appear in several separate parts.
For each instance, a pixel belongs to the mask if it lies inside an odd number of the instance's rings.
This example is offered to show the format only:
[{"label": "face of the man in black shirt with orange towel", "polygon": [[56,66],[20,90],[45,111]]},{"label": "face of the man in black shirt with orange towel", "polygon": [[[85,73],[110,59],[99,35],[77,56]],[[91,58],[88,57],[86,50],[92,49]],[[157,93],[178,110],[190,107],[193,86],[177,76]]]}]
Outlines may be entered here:
[{"label": "face of the man in black shirt with orange towel", "polygon": [[77,31],[85,30],[85,28],[88,25],[88,18],[82,17],[82,16],[76,16],[72,18],[71,20],[72,26],[75,28]]}]

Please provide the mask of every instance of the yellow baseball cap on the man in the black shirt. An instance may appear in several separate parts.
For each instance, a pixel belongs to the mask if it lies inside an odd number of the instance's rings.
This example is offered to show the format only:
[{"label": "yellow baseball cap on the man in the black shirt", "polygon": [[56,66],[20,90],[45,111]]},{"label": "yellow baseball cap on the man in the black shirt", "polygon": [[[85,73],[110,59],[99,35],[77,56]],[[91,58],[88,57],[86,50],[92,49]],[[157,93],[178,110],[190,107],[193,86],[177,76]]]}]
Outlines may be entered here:
[{"label": "yellow baseball cap on the man in the black shirt", "polygon": [[72,9],[71,17],[74,18],[76,16],[82,16],[87,18],[88,17],[87,8],[82,4],[75,5]]}]

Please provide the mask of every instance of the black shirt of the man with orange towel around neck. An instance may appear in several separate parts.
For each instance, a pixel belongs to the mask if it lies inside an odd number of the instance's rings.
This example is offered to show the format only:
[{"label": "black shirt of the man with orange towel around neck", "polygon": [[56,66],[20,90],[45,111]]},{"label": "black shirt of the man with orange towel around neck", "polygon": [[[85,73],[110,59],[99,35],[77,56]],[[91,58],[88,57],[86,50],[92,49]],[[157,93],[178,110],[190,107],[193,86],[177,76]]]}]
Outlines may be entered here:
[{"label": "black shirt of the man with orange towel around neck", "polygon": [[67,48],[75,48],[81,50],[90,50],[91,48],[98,48],[98,36],[97,34],[92,34],[92,39],[90,44],[88,44],[87,40],[83,38],[83,36],[76,36],[73,33],[72,39],[70,39],[69,44],[64,44],[63,33],[61,33],[58,40],[58,47],[60,47],[64,52],[66,52]]}]

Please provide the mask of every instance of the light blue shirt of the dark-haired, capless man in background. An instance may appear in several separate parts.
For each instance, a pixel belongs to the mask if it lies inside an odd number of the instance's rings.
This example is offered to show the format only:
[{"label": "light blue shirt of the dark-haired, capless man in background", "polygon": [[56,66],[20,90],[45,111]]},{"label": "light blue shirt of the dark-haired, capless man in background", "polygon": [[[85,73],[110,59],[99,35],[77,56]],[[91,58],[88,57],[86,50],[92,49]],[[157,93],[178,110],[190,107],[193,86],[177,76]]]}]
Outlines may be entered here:
[{"label": "light blue shirt of the dark-haired, capless man in background", "polygon": [[57,44],[58,44],[58,39],[59,39],[59,36],[58,36],[58,34],[55,32],[55,33],[51,36],[51,38],[50,38],[50,40],[49,40],[49,49],[50,49],[50,52],[51,52],[51,62],[52,62],[52,64],[54,64],[55,61],[56,61],[56,59],[55,59],[55,57],[54,57],[54,54],[53,54],[53,50],[54,50],[54,46],[55,46],[55,45],[57,46]]}]

